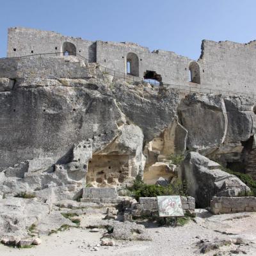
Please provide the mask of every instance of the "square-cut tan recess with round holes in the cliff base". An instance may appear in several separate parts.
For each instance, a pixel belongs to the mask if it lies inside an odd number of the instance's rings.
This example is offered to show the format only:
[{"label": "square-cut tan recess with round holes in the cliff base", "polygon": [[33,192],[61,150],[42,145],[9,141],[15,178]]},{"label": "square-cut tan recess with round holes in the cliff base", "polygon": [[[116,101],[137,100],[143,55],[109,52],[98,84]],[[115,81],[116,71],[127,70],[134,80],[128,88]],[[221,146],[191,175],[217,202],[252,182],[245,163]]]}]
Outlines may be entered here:
[{"label": "square-cut tan recess with round holes in the cliff base", "polygon": [[93,155],[88,161],[86,185],[94,187],[119,186],[131,177],[128,155]]}]

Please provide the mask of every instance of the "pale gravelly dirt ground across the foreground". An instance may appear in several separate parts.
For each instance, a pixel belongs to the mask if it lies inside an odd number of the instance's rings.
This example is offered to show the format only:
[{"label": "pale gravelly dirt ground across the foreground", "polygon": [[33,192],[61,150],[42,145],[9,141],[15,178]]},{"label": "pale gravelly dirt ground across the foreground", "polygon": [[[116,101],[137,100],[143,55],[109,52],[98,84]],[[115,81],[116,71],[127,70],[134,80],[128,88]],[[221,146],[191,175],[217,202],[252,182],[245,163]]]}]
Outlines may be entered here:
[{"label": "pale gravelly dirt ground across the foreground", "polygon": [[[101,214],[82,217],[82,228],[70,228],[51,236],[41,237],[42,244],[33,248],[10,248],[0,245],[1,256],[189,256],[199,255],[200,240],[236,239],[246,243],[221,246],[205,255],[256,255],[256,213],[222,214],[213,216],[197,210],[198,216],[184,227],[158,227],[146,223],[152,241],[115,241],[115,246],[100,246],[100,237],[106,232],[90,232],[85,228],[102,221]],[[94,250],[94,246],[98,250]],[[238,253],[235,253],[238,252]],[[240,251],[240,252],[239,252]]]}]

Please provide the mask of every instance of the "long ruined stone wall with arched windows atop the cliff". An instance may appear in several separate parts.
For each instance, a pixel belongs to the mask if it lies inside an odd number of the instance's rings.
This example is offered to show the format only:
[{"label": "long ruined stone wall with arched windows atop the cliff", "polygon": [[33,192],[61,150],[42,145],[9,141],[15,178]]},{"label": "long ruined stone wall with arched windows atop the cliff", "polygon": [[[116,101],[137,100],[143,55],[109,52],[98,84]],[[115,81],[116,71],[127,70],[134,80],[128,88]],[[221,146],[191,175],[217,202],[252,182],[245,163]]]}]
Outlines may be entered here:
[{"label": "long ruined stone wall with arched windows atop the cliff", "polygon": [[195,61],[175,52],[150,52],[134,43],[92,42],[52,31],[10,28],[7,56],[72,55],[100,63],[116,74],[154,79],[180,88],[190,86],[195,92],[201,89],[205,93],[255,94],[255,41],[239,44],[203,40],[201,48],[201,56]]}]

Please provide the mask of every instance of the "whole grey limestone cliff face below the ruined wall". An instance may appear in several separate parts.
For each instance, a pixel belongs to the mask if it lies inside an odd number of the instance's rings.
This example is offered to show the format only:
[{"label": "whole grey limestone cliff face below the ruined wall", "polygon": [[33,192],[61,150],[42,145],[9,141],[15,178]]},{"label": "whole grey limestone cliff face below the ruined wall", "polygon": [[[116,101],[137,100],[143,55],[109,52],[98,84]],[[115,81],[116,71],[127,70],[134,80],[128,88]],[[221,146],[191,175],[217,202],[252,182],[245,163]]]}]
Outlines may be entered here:
[{"label": "whole grey limestone cliff face below the ruined wall", "polygon": [[0,191],[74,199],[85,184],[125,186],[143,172],[155,182],[186,149],[253,173],[252,99],[184,97],[83,68],[79,79],[0,78]]}]

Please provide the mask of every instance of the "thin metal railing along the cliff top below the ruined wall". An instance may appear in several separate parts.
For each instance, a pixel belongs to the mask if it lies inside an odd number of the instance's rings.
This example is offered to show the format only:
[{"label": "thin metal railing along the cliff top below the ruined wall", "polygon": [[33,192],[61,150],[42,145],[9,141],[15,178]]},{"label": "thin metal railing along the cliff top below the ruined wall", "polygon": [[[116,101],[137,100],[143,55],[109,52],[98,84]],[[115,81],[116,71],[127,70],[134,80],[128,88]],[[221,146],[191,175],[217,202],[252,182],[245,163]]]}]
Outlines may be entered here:
[{"label": "thin metal railing along the cliff top below the ruined wall", "polygon": [[[33,57],[33,56],[57,56],[57,57],[63,57],[65,56],[66,52],[45,52],[45,53],[38,53],[38,54],[29,54],[25,56],[15,56],[15,57],[6,57],[6,58],[0,58],[0,59],[12,59],[12,58],[28,58],[28,57]],[[61,55],[63,54],[63,55]],[[83,60],[85,63],[90,63],[90,61],[82,56],[81,54],[78,54],[77,52],[68,52],[68,56],[77,56],[81,60]],[[74,55],[72,55],[74,54]],[[103,65],[99,64],[99,67],[102,68],[103,74],[109,74],[115,79],[124,79],[124,81],[130,81],[130,82],[141,82],[144,81],[145,79],[143,77],[137,77],[137,76],[132,76],[130,74],[125,74],[124,72],[120,72],[111,68],[104,67]],[[147,79],[146,79],[147,80]],[[145,81],[145,83],[150,83],[148,81]],[[172,88],[174,90],[177,90],[179,93],[183,94],[188,94],[188,93],[213,93],[216,95],[239,95],[239,96],[245,96],[245,97],[251,97],[253,99],[256,99],[256,94],[254,93],[244,93],[244,92],[234,92],[234,91],[228,91],[228,90],[218,90],[218,89],[211,89],[211,88],[204,88],[202,86],[192,86],[192,85],[182,85],[182,84],[172,84],[172,83],[154,83],[151,82],[150,84],[155,85],[155,86],[166,86],[168,88]]]}]

